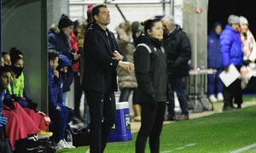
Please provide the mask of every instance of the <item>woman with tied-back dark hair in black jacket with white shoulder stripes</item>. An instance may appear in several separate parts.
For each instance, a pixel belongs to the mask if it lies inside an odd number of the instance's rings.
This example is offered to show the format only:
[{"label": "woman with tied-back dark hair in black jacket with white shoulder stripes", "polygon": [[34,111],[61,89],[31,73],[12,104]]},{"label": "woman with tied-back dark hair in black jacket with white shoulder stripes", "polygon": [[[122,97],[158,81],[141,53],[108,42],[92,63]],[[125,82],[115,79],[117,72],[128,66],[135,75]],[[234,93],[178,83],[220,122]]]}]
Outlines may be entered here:
[{"label": "woman with tied-back dark hair in black jacket with white shoulder stripes", "polygon": [[160,133],[166,113],[169,91],[166,53],[161,46],[163,26],[160,20],[145,20],[144,34],[137,38],[134,53],[137,100],[142,106],[142,125],[137,135],[136,152],[145,152],[149,136],[150,152],[160,152]]}]

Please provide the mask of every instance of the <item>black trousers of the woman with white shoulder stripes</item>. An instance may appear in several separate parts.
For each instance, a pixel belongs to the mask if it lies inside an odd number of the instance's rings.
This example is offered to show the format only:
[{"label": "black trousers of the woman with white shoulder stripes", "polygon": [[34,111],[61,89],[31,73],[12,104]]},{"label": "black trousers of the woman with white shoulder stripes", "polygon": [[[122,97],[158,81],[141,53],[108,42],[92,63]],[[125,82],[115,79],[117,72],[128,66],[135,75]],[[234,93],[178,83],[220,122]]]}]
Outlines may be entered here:
[{"label": "black trousers of the woman with white shoulder stripes", "polygon": [[142,125],[137,134],[136,153],[144,153],[149,136],[151,153],[160,152],[160,133],[162,131],[166,114],[165,102],[145,102],[142,106]]}]

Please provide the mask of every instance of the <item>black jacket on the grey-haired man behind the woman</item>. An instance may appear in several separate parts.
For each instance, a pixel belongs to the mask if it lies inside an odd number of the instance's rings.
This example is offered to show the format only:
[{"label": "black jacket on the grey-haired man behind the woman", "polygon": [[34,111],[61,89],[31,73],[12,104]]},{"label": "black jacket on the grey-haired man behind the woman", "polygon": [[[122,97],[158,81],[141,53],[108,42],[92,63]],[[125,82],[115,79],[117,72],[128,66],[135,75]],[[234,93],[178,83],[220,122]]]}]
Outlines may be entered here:
[{"label": "black jacket on the grey-haired man behind the woman", "polygon": [[189,37],[178,25],[170,34],[165,34],[164,48],[166,50],[168,74],[177,77],[189,75],[188,61],[191,59],[191,44]]}]

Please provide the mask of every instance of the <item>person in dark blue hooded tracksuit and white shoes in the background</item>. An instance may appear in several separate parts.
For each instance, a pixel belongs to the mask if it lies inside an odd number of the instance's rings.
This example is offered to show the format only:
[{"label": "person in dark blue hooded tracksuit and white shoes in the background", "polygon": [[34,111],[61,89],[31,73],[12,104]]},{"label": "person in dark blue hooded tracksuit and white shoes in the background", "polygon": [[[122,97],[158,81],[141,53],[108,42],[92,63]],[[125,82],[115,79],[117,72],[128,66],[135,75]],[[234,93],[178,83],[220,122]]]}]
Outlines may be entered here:
[{"label": "person in dark blue hooded tracksuit and white shoes in the background", "polygon": [[[208,96],[214,103],[217,100],[223,100],[223,82],[220,80],[219,73],[223,71],[219,36],[222,31],[222,24],[215,22],[211,33],[207,37],[207,67],[216,70],[212,74],[208,74]],[[216,91],[216,92],[215,92]],[[217,98],[215,95],[217,94]]]}]

